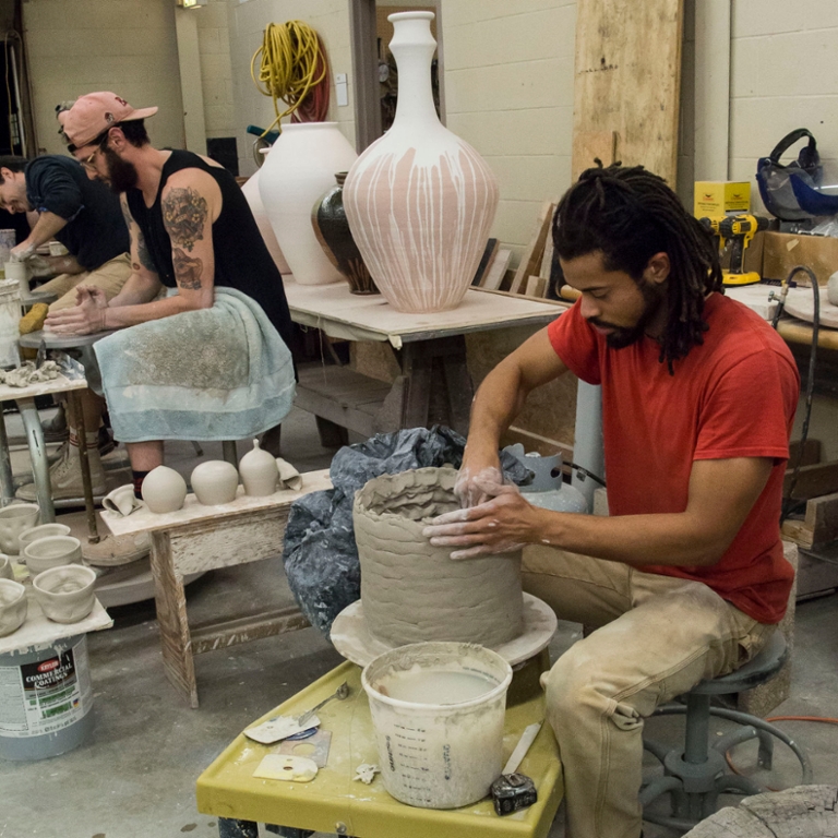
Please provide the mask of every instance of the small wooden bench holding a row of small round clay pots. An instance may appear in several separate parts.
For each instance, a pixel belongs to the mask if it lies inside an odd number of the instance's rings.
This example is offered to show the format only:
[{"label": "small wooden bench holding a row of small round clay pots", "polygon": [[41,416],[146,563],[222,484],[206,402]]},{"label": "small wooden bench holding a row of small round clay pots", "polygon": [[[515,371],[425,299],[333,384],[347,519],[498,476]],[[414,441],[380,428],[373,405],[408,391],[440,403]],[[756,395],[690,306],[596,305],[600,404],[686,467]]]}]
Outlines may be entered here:
[{"label": "small wooden bench holding a row of small round clay pots", "polygon": [[234,567],[278,555],[291,504],[309,492],[331,489],[328,470],[302,475],[301,491],[284,490],[266,498],[239,493],[230,503],[204,506],[188,494],[183,508],[158,515],[142,506],[128,517],[105,511],[101,517],[115,536],[148,532],[163,666],[175,689],[193,708],[197,683],[193,655],[238,643],[304,628],[296,607],[227,618],[190,628],[183,576]]}]

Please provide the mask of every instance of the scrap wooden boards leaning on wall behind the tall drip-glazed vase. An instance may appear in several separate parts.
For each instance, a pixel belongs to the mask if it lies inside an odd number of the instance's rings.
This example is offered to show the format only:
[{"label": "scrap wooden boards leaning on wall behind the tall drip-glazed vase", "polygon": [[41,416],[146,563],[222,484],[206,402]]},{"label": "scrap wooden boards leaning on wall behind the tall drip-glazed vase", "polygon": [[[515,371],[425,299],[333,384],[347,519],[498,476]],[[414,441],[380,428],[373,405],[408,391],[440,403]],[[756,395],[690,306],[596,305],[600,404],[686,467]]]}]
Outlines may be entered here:
[{"label": "scrap wooden boards leaning on wall behind the tall drip-glazed vase", "polygon": [[471,285],[488,291],[546,298],[553,264],[553,237],[550,230],[555,206],[555,203],[549,201],[541,206],[532,238],[515,270],[510,268],[512,251],[499,247],[498,239],[489,239]]}]

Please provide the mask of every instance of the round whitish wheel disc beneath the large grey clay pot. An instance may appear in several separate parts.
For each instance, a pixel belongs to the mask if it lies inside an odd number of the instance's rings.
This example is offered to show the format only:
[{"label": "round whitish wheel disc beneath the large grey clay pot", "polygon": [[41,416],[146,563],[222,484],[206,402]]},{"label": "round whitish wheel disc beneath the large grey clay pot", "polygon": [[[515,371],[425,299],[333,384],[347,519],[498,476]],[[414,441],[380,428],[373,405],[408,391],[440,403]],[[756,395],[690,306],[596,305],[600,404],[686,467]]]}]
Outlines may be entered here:
[{"label": "round whitish wheel disc beneath the large grey clay pot", "polygon": [[[546,648],[555,634],[559,621],[553,610],[546,602],[531,594],[524,594],[524,632],[508,643],[490,646],[506,660],[510,666],[522,663]],[[361,600],[347,606],[332,623],[331,633],[334,647],[352,663],[366,667],[371,660],[396,648],[373,637],[363,616]]]}]

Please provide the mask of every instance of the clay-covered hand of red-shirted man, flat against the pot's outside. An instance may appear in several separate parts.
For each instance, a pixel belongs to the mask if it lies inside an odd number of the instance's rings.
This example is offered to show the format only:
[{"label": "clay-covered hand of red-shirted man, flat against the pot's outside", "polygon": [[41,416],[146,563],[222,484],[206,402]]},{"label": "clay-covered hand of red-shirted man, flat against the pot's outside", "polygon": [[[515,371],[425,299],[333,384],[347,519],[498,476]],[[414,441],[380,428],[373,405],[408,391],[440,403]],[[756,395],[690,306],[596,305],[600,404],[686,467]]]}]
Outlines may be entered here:
[{"label": "clay-covered hand of red-shirted man, flat against the pot's outside", "polygon": [[422,530],[434,547],[456,547],[452,559],[476,559],[520,550],[537,537],[539,511],[515,486],[496,486],[493,496],[465,510],[446,512]]}]

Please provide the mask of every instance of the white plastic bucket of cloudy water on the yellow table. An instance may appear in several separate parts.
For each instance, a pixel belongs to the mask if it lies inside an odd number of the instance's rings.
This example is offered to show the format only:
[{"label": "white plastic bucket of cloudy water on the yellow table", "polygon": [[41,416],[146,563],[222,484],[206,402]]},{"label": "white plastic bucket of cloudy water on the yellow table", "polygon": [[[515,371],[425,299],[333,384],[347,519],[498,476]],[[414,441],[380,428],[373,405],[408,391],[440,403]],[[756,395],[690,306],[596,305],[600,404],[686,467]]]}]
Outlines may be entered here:
[{"label": "white plastic bucket of cloudy water on the yellow table", "polygon": [[468,643],[417,643],[371,661],[361,683],[386,790],[422,809],[484,798],[501,774],[511,681],[500,655]]}]

